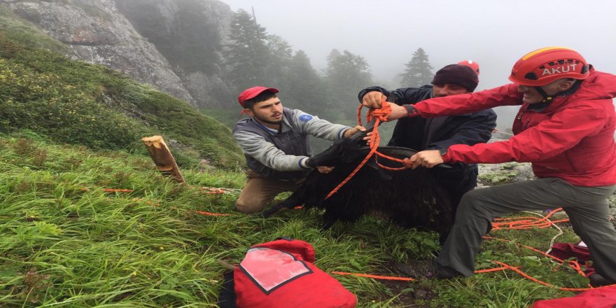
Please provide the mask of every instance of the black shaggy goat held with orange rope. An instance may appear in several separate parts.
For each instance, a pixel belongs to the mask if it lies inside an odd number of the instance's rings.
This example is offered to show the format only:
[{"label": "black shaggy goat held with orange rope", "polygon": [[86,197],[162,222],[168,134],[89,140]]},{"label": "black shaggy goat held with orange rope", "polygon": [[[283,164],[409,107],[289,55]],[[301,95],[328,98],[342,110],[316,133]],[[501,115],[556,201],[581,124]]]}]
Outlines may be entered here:
[{"label": "black shaggy goat held with orange rope", "polygon": [[[365,133],[360,133],[350,139],[341,139],[314,155],[311,160],[316,165],[334,166],[335,169],[328,174],[315,169],[293,195],[265,211],[263,216],[303,204],[304,209],[325,209],[323,228],[327,229],[336,221],[354,223],[365,214],[379,213],[403,227],[440,232],[444,239],[453,225],[455,209],[449,194],[437,183],[433,173],[423,167],[388,171],[378,167],[373,156],[337,193],[325,200],[370,152],[362,140],[364,136]],[[398,147],[379,147],[379,152],[399,159],[416,153]],[[397,162],[378,160],[381,165],[400,167]]]}]

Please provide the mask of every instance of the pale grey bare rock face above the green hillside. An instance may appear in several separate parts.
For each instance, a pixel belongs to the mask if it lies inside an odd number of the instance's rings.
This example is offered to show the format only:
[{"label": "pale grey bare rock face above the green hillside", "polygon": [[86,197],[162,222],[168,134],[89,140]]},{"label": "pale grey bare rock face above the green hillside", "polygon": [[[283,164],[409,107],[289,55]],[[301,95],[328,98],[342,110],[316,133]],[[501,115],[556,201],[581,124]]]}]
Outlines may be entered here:
[{"label": "pale grey bare rock face above the green hillside", "polygon": [[69,57],[103,64],[174,97],[195,99],[158,49],[134,29],[113,0],[3,1],[71,48]]}]

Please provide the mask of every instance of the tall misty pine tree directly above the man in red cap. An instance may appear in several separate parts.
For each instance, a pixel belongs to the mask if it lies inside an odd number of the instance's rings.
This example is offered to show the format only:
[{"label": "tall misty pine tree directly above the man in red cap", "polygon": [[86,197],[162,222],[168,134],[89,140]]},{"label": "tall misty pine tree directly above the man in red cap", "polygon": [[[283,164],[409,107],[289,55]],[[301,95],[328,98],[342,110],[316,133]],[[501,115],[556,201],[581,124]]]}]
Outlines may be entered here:
[{"label": "tall misty pine tree directly above the man in red cap", "polygon": [[265,27],[258,25],[246,10],[237,10],[231,24],[227,45],[226,64],[230,66],[229,79],[237,90],[267,84],[269,52]]}]

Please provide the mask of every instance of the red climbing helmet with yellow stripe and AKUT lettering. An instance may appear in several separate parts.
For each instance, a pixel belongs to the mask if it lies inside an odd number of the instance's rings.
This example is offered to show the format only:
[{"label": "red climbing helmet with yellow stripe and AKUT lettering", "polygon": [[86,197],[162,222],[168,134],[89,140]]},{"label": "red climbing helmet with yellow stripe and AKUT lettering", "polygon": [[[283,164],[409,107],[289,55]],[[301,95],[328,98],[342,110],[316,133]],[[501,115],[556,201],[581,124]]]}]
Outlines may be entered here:
[{"label": "red climbing helmet with yellow stripe and AKUT lettering", "polygon": [[546,47],[528,52],[513,65],[509,80],[531,87],[547,85],[560,78],[584,79],[589,65],[577,51]]}]

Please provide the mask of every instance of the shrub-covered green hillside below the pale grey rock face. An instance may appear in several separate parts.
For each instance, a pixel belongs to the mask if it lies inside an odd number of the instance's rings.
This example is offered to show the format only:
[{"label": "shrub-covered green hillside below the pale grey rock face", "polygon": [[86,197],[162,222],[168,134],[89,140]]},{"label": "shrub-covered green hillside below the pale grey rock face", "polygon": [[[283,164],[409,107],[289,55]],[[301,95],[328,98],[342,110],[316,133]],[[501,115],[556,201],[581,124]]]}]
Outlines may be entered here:
[{"label": "shrub-covered green hillside below the pale grey rock face", "polygon": [[244,165],[231,131],[188,103],[102,65],[73,61],[66,47],[0,5],[0,132],[28,129],[56,142],[143,151],[141,137],[174,140],[179,164],[206,158]]}]

